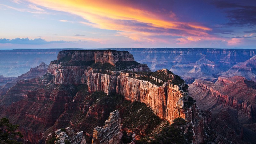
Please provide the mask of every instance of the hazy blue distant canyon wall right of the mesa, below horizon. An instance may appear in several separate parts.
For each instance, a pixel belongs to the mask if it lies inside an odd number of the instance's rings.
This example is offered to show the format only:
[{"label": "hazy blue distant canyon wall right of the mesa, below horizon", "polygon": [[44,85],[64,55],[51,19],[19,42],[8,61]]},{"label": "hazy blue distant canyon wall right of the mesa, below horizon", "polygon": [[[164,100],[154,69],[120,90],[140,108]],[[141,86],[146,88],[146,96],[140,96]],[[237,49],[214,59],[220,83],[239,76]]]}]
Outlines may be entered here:
[{"label": "hazy blue distant canyon wall right of the mesa, below horizon", "polygon": [[[255,71],[243,71],[245,67],[241,67],[237,72],[234,70],[238,68],[232,68],[235,64],[255,56],[255,49],[132,48],[122,50],[129,51],[136,61],[148,64],[152,71],[169,69],[181,76],[188,84],[195,79],[215,82],[218,79],[217,75],[239,74],[246,78],[253,78],[256,75]],[[247,69],[250,68],[251,66]]]}]

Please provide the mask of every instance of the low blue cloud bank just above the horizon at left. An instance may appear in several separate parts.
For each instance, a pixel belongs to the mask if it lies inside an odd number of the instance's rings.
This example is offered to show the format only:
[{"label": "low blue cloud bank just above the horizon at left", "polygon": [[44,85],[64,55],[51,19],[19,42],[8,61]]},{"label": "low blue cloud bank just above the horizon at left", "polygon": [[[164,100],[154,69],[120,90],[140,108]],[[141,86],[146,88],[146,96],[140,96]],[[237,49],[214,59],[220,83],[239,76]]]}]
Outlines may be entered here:
[{"label": "low blue cloud bank just above the horizon at left", "polygon": [[14,38],[14,39],[6,39],[1,38],[0,44],[32,44],[32,45],[42,45],[42,44],[52,44],[52,43],[70,43],[67,41],[45,41],[42,38],[35,38],[29,39],[29,38]]}]

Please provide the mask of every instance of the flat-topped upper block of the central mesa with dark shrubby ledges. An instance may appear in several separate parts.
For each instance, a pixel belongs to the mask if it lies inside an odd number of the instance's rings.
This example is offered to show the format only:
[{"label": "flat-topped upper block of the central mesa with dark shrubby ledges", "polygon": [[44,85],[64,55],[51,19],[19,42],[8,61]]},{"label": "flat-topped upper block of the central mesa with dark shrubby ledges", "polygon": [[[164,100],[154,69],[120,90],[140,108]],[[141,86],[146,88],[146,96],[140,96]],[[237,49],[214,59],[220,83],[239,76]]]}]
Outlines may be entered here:
[{"label": "flat-topped upper block of the central mesa with dark shrubby ledges", "polygon": [[47,73],[54,76],[55,84],[83,84],[82,76],[87,69],[94,71],[147,71],[146,64],[134,61],[132,54],[127,51],[113,50],[71,50],[60,51],[50,63]]}]

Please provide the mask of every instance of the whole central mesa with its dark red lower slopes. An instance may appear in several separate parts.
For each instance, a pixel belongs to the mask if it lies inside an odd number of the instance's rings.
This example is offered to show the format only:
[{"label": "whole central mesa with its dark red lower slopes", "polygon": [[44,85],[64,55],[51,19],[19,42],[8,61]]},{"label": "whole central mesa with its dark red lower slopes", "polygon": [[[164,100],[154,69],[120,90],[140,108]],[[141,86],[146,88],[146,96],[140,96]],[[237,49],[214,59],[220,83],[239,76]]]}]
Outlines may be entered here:
[{"label": "whole central mesa with its dark red lower slopes", "polygon": [[[76,131],[83,128],[90,143],[93,129],[104,124],[116,108],[127,126],[122,130],[134,132],[135,140],[163,127],[161,124],[183,118],[187,125],[183,132],[192,132],[193,143],[202,143],[204,125],[210,121],[203,118],[208,114],[188,96],[185,81],[167,69],[151,72],[127,51],[61,51],[44,76],[18,81],[4,96],[8,100],[1,100],[1,117],[19,124],[24,138],[32,143],[44,143],[52,131],[68,126]],[[140,111],[133,111],[138,105],[137,109],[148,111],[148,121],[132,122],[130,116],[125,116],[128,111],[135,113],[134,118],[139,117]],[[131,127],[131,123],[138,122],[140,127]]]}]

